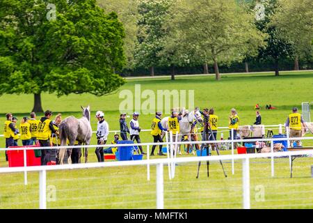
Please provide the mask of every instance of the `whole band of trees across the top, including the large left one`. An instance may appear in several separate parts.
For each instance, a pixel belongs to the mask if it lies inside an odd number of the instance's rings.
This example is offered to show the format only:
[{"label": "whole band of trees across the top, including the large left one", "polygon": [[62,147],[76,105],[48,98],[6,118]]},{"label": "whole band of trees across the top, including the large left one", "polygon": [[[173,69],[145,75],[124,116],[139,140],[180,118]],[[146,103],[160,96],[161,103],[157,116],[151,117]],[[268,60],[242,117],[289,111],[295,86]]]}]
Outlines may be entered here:
[{"label": "whole band of trees across the top, including the large left one", "polygon": [[1,0],[0,95],[117,90],[125,70],[312,61],[311,0]]}]

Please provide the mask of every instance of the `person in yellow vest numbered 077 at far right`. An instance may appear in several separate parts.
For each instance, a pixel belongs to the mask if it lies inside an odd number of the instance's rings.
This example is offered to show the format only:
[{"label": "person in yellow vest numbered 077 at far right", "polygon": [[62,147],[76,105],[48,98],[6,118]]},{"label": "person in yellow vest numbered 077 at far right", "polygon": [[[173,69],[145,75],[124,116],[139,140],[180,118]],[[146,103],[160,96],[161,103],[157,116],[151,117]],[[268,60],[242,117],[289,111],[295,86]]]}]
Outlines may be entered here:
[{"label": "person in yellow vest numbered 077 at far right", "polygon": [[[302,125],[301,125],[302,123]],[[289,128],[289,137],[302,137],[302,128],[307,128],[303,116],[298,113],[298,108],[294,107],[292,109],[292,113],[289,114],[287,121],[285,123],[285,127]],[[297,141],[300,142],[300,141]]]}]

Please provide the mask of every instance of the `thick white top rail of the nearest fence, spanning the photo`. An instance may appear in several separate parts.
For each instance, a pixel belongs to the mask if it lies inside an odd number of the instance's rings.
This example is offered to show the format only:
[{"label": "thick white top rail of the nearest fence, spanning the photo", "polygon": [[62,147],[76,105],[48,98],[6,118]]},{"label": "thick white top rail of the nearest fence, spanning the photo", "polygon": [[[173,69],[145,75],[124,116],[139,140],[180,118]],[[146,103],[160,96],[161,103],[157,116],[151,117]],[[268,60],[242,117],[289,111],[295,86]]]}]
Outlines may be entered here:
[{"label": "thick white top rail of the nearest fence, spanning the photo", "polygon": [[288,157],[295,155],[313,155],[313,149],[307,151],[287,151],[276,153],[250,153],[238,155],[211,155],[211,156],[197,156],[197,157],[176,157],[170,159],[153,159],[153,160],[131,160],[122,162],[91,162],[86,164],[64,164],[51,166],[34,166],[34,167],[1,167],[0,173],[17,173],[26,171],[52,171],[64,169],[90,169],[99,167],[125,167],[138,166],[147,164],[168,164],[168,162],[182,163],[182,162],[202,162],[202,161],[219,161],[219,160],[243,160],[252,158],[267,158],[267,157]]}]

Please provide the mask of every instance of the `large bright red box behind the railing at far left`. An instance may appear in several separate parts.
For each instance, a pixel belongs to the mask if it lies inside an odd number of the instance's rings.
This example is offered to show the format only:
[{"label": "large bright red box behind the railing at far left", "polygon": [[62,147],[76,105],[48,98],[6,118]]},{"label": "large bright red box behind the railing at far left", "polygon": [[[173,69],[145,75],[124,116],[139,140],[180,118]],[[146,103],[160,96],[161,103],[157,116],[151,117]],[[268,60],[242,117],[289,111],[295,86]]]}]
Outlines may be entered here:
[{"label": "large bright red box behind the railing at far left", "polygon": [[[6,151],[8,154],[8,163],[9,167],[24,167],[24,151],[22,148],[24,147],[40,147],[38,145],[35,146],[10,146],[9,148],[21,148],[18,151]],[[35,157],[35,152],[33,149],[26,150],[26,166],[40,166],[41,161],[40,157]]]}]

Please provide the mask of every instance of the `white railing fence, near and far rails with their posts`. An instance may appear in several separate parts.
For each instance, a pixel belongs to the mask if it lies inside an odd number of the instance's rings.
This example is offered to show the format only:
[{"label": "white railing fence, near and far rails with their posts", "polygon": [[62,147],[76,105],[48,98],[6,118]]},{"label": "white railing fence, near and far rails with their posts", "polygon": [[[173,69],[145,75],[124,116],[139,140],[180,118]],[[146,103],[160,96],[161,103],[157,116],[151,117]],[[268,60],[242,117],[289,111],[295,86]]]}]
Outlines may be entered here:
[{"label": "white railing fence, near and far rails with their posts", "polygon": [[[164,159],[150,159],[149,153],[147,153],[147,160],[134,160],[134,161],[122,161],[122,162],[99,162],[99,163],[86,163],[86,164],[64,164],[55,166],[36,166],[36,167],[26,167],[26,150],[28,149],[51,149],[56,147],[38,147],[38,148],[22,148],[24,150],[24,167],[3,167],[0,168],[1,173],[17,173],[29,171],[39,171],[39,194],[40,194],[40,208],[47,208],[46,201],[46,190],[47,190],[47,171],[56,170],[72,170],[72,169],[88,169],[88,168],[101,168],[101,167],[125,167],[125,166],[147,166],[147,180],[150,180],[150,165],[157,166],[157,208],[164,208],[164,185],[163,185],[163,165],[182,163],[182,162],[202,162],[202,161],[224,161],[232,160],[232,173],[234,174],[234,160],[242,160],[242,190],[243,190],[243,208],[250,208],[250,159],[261,158],[261,157],[271,157],[271,176],[274,176],[274,157],[291,157],[296,155],[313,155],[313,149],[307,151],[287,151],[274,153],[273,151],[273,141],[282,140],[313,140],[313,137],[302,137],[302,138],[281,138],[281,139],[238,139],[238,140],[216,140],[216,141],[166,141],[163,143],[150,143],[150,144],[118,144],[118,146],[147,146],[147,152],[149,152],[149,147],[152,145],[168,145],[169,148],[175,148],[175,146],[182,144],[212,144],[212,143],[222,143],[228,142],[234,144],[236,142],[252,142],[252,141],[271,141],[271,153],[254,153],[254,154],[238,154],[234,155],[234,148],[232,148],[232,155],[212,155],[212,156],[200,156],[200,157],[176,157],[175,155],[170,155]],[[95,148],[95,147],[108,147],[117,146],[117,144],[108,145],[89,145],[89,146],[59,146],[59,148]],[[21,148],[0,148],[0,151],[8,150],[21,150]],[[172,166],[172,167],[173,167]],[[291,167],[290,167],[291,168]],[[170,171],[175,171],[175,169],[170,169]],[[172,173],[170,179],[175,176]]]}]

